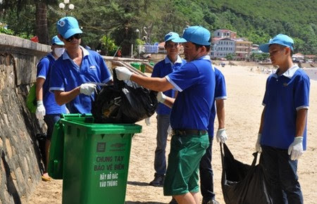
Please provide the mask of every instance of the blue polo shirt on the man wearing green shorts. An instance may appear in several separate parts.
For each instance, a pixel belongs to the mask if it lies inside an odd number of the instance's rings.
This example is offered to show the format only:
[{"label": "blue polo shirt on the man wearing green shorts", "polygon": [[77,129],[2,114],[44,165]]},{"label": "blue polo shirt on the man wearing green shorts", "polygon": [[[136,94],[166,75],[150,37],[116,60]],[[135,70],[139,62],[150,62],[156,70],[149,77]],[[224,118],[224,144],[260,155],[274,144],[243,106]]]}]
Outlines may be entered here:
[{"label": "blue polo shirt on the man wearing green shorts", "polygon": [[210,57],[186,63],[166,79],[179,91],[170,113],[170,126],[207,130],[215,91],[215,72]]}]

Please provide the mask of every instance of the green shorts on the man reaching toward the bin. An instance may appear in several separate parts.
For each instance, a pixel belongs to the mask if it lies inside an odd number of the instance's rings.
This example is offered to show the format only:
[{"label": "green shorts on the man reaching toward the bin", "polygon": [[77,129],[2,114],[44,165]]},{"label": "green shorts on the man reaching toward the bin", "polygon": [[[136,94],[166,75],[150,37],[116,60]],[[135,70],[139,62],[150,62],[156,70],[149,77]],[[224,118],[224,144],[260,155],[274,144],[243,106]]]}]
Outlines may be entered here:
[{"label": "green shorts on the man reaching toward the bin", "polygon": [[208,134],[173,135],[170,141],[168,167],[164,179],[164,196],[199,191],[199,162],[208,147]]}]

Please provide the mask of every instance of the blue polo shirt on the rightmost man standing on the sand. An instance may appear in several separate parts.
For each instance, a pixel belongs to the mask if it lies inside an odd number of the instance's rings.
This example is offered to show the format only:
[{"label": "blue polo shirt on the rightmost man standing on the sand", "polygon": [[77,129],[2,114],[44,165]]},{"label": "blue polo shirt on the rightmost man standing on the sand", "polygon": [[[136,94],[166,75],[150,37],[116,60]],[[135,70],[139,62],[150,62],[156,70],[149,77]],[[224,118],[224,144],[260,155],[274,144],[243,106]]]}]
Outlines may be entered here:
[{"label": "blue polo shirt on the rightmost man standing on the sand", "polygon": [[[309,77],[297,65],[280,76],[275,73],[268,77],[261,145],[287,149],[292,144],[297,136],[297,110],[309,108],[309,87]],[[306,126],[303,137],[306,150]]]}]

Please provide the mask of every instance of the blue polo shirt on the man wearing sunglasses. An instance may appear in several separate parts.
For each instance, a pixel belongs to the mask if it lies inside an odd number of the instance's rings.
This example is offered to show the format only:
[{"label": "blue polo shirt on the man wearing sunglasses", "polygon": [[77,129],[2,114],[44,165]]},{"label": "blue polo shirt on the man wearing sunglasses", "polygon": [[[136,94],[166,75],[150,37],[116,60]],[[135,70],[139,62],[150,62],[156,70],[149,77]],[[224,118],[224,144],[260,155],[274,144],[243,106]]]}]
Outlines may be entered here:
[{"label": "blue polo shirt on the man wearing sunglasses", "polygon": [[[99,53],[86,50],[82,46],[82,64],[79,67],[68,56],[67,51],[56,60],[51,70],[49,91],[71,91],[87,82],[106,83],[112,79],[104,59]],[[79,94],[73,101],[67,103],[70,113],[91,113],[94,94],[87,96]]]}]

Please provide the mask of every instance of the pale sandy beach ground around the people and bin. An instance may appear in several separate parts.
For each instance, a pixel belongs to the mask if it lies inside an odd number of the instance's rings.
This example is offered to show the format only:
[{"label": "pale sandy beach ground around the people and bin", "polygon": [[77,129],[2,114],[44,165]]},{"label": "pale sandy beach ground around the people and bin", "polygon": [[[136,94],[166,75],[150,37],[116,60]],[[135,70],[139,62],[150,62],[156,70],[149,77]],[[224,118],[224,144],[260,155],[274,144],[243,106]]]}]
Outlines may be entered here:
[{"label": "pale sandy beach ground around the people and bin", "polygon": [[[251,68],[253,68],[251,70]],[[253,160],[254,146],[263,106],[261,105],[268,74],[261,72],[256,66],[226,65],[219,69],[225,75],[228,99],[225,101],[226,131],[228,147],[237,160],[250,164]],[[304,194],[304,203],[316,203],[317,200],[317,81],[311,80],[310,107],[308,115],[307,151],[299,159],[299,182]],[[125,203],[168,203],[170,197],[163,196],[161,187],[149,186],[154,179],[154,151],[156,148],[156,115],[151,117],[151,125],[144,121],[141,134],[132,139],[128,186]],[[215,122],[217,129],[218,122]],[[315,133],[314,133],[315,132]],[[169,152],[169,141],[166,155]],[[220,203],[223,195],[220,186],[221,160],[220,148],[216,139],[213,141],[213,172],[216,199]],[[37,189],[23,203],[61,203],[62,181],[41,181]],[[111,198],[108,198],[111,199]]]}]

